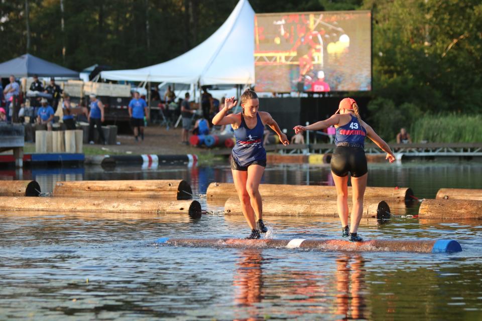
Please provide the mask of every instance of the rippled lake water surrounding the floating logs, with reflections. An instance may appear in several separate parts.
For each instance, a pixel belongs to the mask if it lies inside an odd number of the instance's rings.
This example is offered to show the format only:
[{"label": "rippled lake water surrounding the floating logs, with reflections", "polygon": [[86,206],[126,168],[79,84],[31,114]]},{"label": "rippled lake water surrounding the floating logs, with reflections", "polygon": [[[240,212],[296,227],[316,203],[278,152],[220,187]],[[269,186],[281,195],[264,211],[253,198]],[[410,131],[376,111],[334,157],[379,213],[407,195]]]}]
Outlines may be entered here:
[{"label": "rippled lake water surrounding the floating logs, with reflections", "polygon": [[[77,171],[77,172],[75,172]],[[60,180],[232,181],[225,166],[24,172],[43,192]],[[280,166],[265,183],[330,184],[327,167]],[[0,172],[7,178],[15,175]],[[18,175],[18,174],[17,174]],[[17,177],[18,178],[18,177]],[[409,186],[419,198],[441,187],[482,188],[478,163],[370,167],[371,186]],[[409,209],[406,213],[416,212]],[[400,213],[404,214],[404,213]],[[266,217],[275,238],[339,238],[330,218]],[[372,238],[450,238],[454,254],[340,253],[159,246],[159,237],[244,237],[239,216],[3,213],[0,319],[481,319],[482,222],[395,218],[363,222]]]}]

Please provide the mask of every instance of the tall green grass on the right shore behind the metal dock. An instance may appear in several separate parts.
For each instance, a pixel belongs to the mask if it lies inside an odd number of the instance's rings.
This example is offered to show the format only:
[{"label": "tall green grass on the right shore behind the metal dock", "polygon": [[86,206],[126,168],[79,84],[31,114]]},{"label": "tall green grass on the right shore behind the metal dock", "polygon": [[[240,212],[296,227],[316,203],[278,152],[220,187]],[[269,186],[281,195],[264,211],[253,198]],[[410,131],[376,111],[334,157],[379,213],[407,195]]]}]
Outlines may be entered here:
[{"label": "tall green grass on the right shore behind the metal dock", "polygon": [[410,127],[413,142],[482,142],[482,116],[424,115]]}]

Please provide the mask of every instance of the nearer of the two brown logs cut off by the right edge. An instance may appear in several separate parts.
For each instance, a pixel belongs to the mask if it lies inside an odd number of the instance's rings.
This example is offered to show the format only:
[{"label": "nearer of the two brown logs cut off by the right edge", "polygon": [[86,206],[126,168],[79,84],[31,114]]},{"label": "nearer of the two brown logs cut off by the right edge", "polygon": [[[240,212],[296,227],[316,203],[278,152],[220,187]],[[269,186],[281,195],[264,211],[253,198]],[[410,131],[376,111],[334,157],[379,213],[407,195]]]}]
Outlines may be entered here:
[{"label": "nearer of the two brown logs cut off by the right edge", "polygon": [[421,219],[482,219],[482,201],[423,200],[418,210]]}]

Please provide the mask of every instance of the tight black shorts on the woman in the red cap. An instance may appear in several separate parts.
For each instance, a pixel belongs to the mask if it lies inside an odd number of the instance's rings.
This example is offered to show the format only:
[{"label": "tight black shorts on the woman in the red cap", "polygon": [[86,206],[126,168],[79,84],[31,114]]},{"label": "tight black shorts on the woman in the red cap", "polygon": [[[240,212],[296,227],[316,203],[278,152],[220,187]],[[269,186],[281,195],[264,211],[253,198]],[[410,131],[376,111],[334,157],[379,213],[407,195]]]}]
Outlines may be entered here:
[{"label": "tight black shorts on the woman in the red cap", "polygon": [[368,173],[365,150],[360,147],[338,146],[331,156],[331,171],[339,177],[348,172],[351,177],[361,177]]}]

